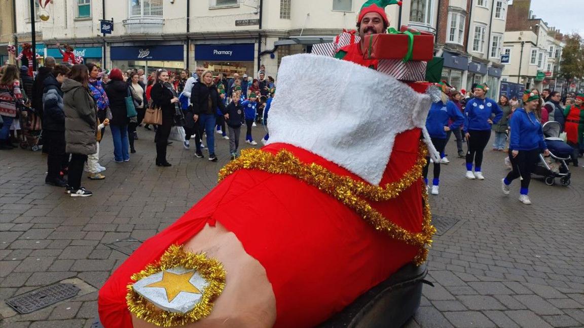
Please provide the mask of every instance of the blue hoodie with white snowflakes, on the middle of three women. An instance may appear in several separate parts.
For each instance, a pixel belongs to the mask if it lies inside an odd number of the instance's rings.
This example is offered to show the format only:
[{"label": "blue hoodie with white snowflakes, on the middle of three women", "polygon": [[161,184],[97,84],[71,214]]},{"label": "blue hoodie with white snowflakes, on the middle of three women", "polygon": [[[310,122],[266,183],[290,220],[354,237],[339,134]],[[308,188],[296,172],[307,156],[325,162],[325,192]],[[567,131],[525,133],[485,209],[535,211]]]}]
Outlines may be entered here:
[{"label": "blue hoodie with white snowflakes, on the middle of three women", "polygon": [[497,123],[503,117],[503,111],[495,100],[478,99],[477,97],[468,100],[464,108],[464,132],[491,130],[491,124],[487,120],[491,118],[492,114],[495,114],[495,118],[492,118],[493,123]]}]

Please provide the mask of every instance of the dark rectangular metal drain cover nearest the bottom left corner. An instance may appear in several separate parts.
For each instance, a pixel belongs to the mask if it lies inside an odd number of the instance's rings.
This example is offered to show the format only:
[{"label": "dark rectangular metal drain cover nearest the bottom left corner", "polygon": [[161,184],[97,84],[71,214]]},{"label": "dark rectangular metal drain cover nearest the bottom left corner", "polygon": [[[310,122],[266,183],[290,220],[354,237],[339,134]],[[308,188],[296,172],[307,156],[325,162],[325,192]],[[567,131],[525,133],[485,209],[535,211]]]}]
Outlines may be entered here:
[{"label": "dark rectangular metal drain cover nearest the bottom left corner", "polygon": [[72,298],[79,292],[73,284],[54,284],[34,291],[26,292],[14,296],[6,301],[6,304],[11,306],[20,314],[34,312],[46,308],[49,305]]}]

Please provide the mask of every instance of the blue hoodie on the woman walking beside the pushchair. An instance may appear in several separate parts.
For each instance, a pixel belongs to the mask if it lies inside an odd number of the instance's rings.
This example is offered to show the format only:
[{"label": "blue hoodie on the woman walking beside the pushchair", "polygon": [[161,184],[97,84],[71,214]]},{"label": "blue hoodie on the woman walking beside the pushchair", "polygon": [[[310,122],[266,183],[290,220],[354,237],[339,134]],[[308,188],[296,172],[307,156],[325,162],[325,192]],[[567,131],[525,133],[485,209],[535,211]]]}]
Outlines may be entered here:
[{"label": "blue hoodie on the woman walking beside the pushchair", "polygon": [[533,149],[547,149],[544,140],[544,132],[541,130],[540,121],[536,115],[527,113],[523,108],[518,108],[513,112],[509,123],[511,130],[509,150],[510,151],[531,151]]}]

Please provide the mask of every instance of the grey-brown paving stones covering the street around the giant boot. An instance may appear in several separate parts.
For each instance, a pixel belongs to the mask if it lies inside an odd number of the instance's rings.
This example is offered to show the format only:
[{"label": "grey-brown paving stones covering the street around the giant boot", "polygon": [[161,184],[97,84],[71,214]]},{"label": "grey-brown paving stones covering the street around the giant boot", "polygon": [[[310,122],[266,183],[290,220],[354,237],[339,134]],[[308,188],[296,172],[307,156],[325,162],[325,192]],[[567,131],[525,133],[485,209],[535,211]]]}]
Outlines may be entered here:
[{"label": "grey-brown paving stones covering the street around the giant boot", "polygon": [[[253,129],[256,140],[263,133],[262,125]],[[168,148],[173,166],[158,168],[154,132],[138,134],[138,152],[119,164],[106,131],[100,163],[107,177],[84,177],[94,194],[81,199],[44,184],[40,152],[0,152],[0,327],[91,327],[95,290],[127,258],[109,246],[123,250],[166,228],[215,186],[228,161],[226,140],[215,141],[217,163],[194,158],[194,149],[175,141]],[[456,154],[453,141],[447,152]],[[485,151],[484,181],[465,179],[456,156],[442,166],[432,212],[459,221],[434,238],[434,287],[424,287],[406,327],[584,327],[584,169],[571,166],[569,187],[534,179],[534,204],[527,206],[517,200],[518,182],[510,196],[500,191],[504,156]],[[68,278],[94,289],[28,315],[4,303]]]}]

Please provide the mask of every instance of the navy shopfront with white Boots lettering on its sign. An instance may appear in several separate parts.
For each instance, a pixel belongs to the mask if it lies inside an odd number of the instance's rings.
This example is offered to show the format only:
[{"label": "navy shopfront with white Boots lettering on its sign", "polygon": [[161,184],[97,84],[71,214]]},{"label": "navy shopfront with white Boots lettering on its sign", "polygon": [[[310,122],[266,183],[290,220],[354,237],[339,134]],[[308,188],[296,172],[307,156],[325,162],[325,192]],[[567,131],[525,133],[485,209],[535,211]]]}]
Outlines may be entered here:
[{"label": "navy shopfront with white Boots lettering on its sign", "polygon": [[127,69],[144,69],[150,73],[158,68],[179,73],[185,68],[185,46],[172,44],[168,46],[122,46],[110,47],[112,67],[122,71]]}]

